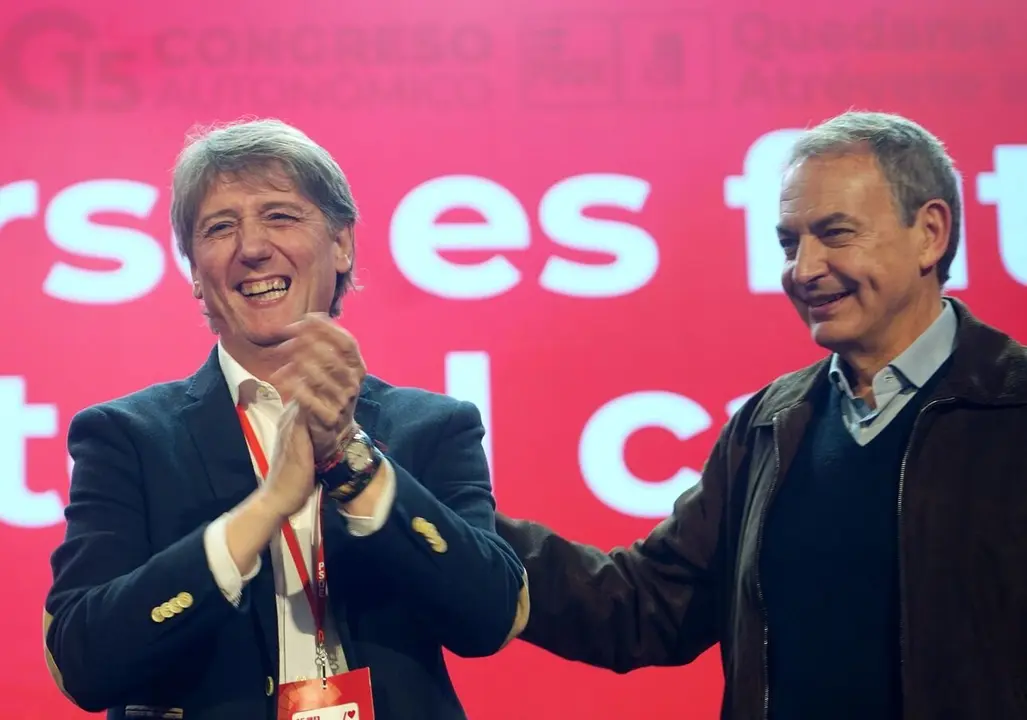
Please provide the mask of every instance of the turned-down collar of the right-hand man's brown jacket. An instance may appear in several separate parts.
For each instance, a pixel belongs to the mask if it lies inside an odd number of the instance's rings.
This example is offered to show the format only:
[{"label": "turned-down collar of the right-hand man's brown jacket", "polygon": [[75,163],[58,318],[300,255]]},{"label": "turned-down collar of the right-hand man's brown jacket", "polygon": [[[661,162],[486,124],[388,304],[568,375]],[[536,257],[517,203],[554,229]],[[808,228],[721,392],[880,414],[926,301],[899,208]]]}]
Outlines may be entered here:
[{"label": "turned-down collar of the right-hand man's brown jacket", "polygon": [[[981,321],[956,298],[947,298],[958,319],[952,366],[931,399],[973,405],[1027,405],[1027,347]],[[830,357],[772,382],[758,402],[754,425],[773,424],[775,415],[807,402],[829,381]]]}]

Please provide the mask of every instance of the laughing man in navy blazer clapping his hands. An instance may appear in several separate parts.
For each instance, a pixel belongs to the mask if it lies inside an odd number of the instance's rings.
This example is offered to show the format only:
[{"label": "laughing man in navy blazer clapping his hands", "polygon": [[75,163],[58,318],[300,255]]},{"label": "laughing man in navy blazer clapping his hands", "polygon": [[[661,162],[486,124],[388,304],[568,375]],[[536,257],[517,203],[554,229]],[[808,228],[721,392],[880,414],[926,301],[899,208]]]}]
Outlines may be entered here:
[{"label": "laughing man in navy blazer clapping his hands", "polygon": [[283,123],[220,127],[179,157],[172,219],[218,343],[72,421],[51,675],[109,718],[270,720],[282,687],[370,669],[380,720],[463,718],[443,648],[509,642],[527,577],[477,409],[368,376],[329,317],[353,266],[344,175]]}]

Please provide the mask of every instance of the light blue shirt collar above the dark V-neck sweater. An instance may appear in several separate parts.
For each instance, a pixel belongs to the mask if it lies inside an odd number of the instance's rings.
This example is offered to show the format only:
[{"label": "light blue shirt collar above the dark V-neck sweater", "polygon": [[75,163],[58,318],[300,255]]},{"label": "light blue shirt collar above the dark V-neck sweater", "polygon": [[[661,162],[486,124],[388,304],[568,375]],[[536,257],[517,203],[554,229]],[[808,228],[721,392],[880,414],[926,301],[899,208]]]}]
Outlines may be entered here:
[{"label": "light blue shirt collar above the dark V-neck sweater", "polygon": [[943,302],[945,308],[930,327],[874,376],[871,390],[876,407],[870,407],[862,397],[852,394],[852,387],[842,370],[841,357],[837,354],[831,357],[828,374],[842,394],[842,418],[852,439],[860,445],[866,445],[887,427],[952,354],[958,320],[952,303],[948,300]]}]

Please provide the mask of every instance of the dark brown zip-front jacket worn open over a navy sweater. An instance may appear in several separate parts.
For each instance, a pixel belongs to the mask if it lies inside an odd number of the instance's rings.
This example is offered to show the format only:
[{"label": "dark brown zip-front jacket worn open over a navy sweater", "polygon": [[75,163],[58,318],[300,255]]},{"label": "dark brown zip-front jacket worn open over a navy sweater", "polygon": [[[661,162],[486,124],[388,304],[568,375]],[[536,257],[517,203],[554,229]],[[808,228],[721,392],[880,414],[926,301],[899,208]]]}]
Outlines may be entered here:
[{"label": "dark brown zip-front jacket worn open over a navy sweater", "polygon": [[[1027,348],[954,305],[952,366],[916,418],[896,498],[904,714],[1027,718]],[[618,673],[684,665],[720,642],[721,717],[764,718],[763,519],[827,368],[757,393],[702,482],[631,547],[607,554],[500,516],[531,578],[522,639]]]}]

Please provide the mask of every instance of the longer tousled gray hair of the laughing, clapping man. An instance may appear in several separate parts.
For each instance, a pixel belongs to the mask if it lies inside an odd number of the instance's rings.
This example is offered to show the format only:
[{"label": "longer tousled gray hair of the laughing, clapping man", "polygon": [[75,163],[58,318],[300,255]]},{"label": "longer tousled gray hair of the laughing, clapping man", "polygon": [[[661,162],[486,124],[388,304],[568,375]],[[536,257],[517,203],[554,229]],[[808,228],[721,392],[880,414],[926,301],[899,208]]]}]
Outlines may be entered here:
[{"label": "longer tousled gray hair of the laughing, clapping man", "polygon": [[[219,178],[275,172],[284,173],[300,194],[320,209],[333,232],[356,223],[349,182],[327,150],[280,120],[240,120],[194,129],[179,154],[172,181],[172,228],[179,251],[192,262],[199,207]],[[347,288],[353,287],[352,274],[350,269],[336,278],[333,316],[339,314]]]}]

